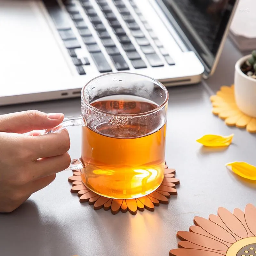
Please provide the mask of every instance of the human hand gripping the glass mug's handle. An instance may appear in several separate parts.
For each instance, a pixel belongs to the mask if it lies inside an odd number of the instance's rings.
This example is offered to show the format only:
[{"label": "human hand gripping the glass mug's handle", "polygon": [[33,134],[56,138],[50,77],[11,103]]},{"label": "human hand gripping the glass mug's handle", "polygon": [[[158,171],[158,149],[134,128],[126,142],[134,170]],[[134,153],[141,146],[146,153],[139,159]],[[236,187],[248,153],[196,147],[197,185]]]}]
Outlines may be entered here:
[{"label": "human hand gripping the glass mug's handle", "polygon": [[70,164],[67,130],[29,136],[52,128],[63,114],[36,110],[0,115],[0,212],[12,212],[28,197],[50,184]]}]

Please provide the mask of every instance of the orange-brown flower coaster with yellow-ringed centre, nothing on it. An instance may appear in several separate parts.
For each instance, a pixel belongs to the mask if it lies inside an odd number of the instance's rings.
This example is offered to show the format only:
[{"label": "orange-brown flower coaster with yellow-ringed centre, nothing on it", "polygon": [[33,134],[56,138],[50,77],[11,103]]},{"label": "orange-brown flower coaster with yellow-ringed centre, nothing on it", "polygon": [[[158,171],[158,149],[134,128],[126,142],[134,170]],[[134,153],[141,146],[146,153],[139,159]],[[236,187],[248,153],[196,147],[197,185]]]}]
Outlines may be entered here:
[{"label": "orange-brown flower coaster with yellow-ringed centre, nothing on it", "polygon": [[177,233],[178,247],[170,256],[255,256],[256,255],[256,207],[247,204],[245,211],[236,208],[234,213],[220,207],[218,216],[209,220],[195,217],[196,226],[189,232]]}]

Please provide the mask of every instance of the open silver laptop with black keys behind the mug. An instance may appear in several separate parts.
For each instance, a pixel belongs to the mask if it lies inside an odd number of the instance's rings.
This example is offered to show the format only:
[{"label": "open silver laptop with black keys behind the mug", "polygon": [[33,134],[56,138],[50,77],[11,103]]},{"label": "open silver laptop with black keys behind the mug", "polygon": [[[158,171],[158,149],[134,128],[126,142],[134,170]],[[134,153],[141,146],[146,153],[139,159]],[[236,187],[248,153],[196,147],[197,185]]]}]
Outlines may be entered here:
[{"label": "open silver laptop with black keys behind the mug", "polygon": [[125,71],[165,86],[216,67],[236,0],[0,0],[0,105],[79,97]]}]

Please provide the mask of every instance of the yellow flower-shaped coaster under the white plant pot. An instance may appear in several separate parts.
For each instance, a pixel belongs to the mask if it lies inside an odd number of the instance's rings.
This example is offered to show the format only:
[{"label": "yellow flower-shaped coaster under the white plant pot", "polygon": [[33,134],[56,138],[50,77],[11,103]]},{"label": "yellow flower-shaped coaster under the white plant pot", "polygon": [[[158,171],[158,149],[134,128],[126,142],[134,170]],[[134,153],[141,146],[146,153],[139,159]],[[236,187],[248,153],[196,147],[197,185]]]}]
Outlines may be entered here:
[{"label": "yellow flower-shaped coaster under the white plant pot", "polygon": [[236,105],[234,85],[221,86],[216,95],[211,96],[212,113],[225,120],[228,126],[246,128],[248,132],[256,132],[256,118],[245,115]]}]

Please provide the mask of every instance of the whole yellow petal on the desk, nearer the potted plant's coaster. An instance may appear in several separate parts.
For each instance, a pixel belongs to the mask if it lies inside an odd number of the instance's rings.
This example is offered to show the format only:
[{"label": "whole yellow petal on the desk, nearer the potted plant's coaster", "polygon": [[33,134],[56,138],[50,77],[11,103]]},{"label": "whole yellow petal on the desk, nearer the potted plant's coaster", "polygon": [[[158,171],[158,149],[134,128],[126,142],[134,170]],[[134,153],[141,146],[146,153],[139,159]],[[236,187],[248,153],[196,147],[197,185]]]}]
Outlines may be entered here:
[{"label": "whole yellow petal on the desk, nearer the potted plant's coaster", "polygon": [[224,147],[231,144],[233,137],[234,134],[231,134],[229,136],[207,134],[196,141],[206,147]]}]

